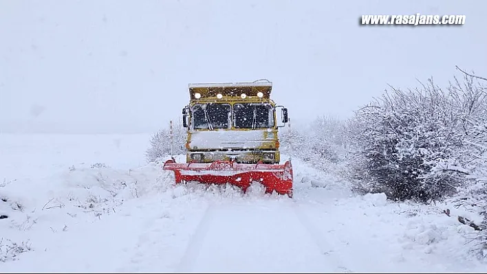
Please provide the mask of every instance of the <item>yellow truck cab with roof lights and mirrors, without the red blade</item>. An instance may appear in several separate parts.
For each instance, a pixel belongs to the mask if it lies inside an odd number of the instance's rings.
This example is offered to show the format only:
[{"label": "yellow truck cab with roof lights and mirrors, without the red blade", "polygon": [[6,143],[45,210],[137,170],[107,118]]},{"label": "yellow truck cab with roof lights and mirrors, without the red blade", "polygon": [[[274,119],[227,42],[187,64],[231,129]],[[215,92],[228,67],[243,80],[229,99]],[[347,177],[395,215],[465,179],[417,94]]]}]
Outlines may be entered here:
[{"label": "yellow truck cab with roof lights and mirrors, without the red blade", "polygon": [[186,163],[279,163],[278,128],[288,109],[271,99],[268,80],[189,84],[182,110],[187,128]]}]

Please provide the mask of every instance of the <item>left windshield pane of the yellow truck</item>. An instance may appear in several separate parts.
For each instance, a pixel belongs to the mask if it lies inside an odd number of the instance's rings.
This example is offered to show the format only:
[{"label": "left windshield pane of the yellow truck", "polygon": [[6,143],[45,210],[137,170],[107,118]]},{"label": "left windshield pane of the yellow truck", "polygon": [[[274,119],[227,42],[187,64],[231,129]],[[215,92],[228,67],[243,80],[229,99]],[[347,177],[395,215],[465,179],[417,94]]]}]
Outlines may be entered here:
[{"label": "left windshield pane of the yellow truck", "polygon": [[192,109],[193,128],[229,128],[230,110],[230,104],[195,104]]}]

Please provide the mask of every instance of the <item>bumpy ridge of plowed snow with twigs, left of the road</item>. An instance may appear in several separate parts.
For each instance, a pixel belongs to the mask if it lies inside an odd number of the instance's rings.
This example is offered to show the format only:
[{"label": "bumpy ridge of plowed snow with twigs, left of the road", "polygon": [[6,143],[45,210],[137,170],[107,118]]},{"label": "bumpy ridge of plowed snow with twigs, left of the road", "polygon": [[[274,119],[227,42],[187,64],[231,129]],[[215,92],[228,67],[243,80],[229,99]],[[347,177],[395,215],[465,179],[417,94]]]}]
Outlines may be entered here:
[{"label": "bumpy ridge of plowed snow with twigs, left of the road", "polygon": [[[0,260],[11,260],[24,251],[43,250],[45,233],[68,231],[83,222],[115,214],[126,201],[158,193],[160,166],[116,170],[104,165],[78,165],[42,179],[19,179],[0,188],[0,221],[3,243]],[[17,251],[15,251],[17,250]],[[25,250],[28,251],[28,250]]]}]

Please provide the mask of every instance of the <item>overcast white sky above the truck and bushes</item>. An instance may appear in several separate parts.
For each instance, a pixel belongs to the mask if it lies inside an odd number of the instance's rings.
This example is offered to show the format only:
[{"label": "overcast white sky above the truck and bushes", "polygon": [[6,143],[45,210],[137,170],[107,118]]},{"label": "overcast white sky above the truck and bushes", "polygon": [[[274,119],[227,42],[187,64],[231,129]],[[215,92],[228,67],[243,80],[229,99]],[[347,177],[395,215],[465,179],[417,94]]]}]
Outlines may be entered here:
[{"label": "overcast white sky above the truck and bushes", "polygon": [[[268,78],[296,120],[350,117],[387,84],[487,76],[487,1],[0,0],[0,131],[152,132],[190,82]],[[465,14],[360,26],[362,14]]]}]

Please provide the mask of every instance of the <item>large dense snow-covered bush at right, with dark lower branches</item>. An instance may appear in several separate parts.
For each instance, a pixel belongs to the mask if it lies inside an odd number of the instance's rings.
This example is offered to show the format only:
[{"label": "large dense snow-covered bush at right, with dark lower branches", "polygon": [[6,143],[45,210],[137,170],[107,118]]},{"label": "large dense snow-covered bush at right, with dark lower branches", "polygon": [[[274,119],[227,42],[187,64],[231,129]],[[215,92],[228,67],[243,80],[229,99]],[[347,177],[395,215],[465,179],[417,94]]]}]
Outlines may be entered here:
[{"label": "large dense snow-covered bush at right, with dark lower branches", "polygon": [[391,87],[358,110],[347,126],[357,189],[424,202],[455,193],[479,154],[466,142],[479,138],[471,121],[485,109],[483,90],[468,77],[446,90],[429,80],[420,89]]}]

